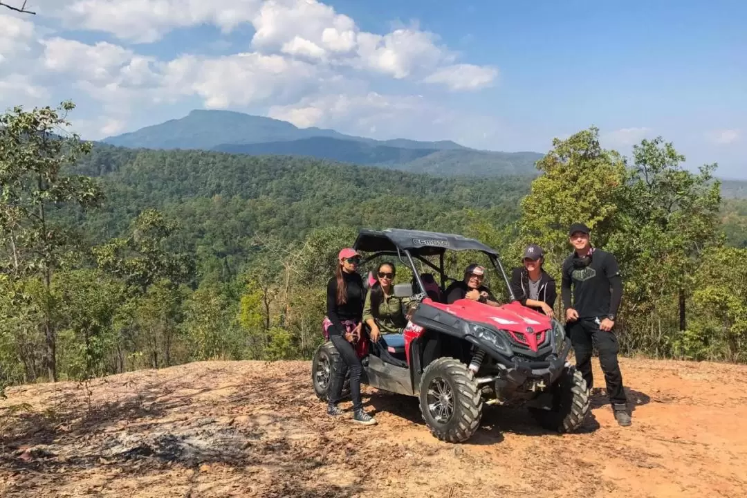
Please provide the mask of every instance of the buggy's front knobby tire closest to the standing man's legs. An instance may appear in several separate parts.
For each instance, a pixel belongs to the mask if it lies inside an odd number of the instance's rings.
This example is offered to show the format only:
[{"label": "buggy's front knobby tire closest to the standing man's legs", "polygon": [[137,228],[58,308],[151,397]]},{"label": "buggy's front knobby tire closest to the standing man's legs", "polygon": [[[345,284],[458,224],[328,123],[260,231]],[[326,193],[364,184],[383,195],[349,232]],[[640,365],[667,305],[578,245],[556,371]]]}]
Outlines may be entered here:
[{"label": "buggy's front knobby tire closest to the standing man's legs", "polygon": [[575,432],[589,413],[589,390],[581,373],[574,367],[563,370],[553,386],[553,409],[531,408],[535,420],[545,429]]}]

